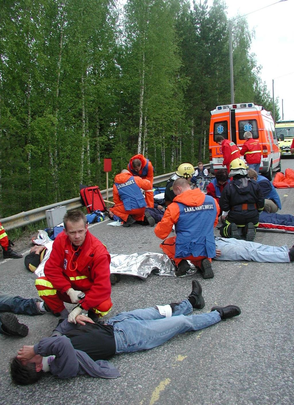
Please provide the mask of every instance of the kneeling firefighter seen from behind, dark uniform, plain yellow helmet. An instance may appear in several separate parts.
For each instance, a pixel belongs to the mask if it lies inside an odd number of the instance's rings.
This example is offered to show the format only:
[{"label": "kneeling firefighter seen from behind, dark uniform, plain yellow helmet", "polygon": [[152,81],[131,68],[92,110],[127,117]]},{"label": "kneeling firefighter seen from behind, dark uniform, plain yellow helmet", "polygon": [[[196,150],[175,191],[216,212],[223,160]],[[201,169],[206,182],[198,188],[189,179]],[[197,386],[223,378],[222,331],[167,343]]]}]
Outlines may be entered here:
[{"label": "kneeling firefighter seen from behind, dark uniform, plain yellow helmet", "polygon": [[229,177],[233,179],[225,186],[219,199],[221,210],[229,211],[225,225],[220,229],[221,236],[241,239],[243,234],[247,241],[253,241],[259,213],[264,209],[262,190],[255,180],[247,177],[247,166],[240,158],[230,163]]}]

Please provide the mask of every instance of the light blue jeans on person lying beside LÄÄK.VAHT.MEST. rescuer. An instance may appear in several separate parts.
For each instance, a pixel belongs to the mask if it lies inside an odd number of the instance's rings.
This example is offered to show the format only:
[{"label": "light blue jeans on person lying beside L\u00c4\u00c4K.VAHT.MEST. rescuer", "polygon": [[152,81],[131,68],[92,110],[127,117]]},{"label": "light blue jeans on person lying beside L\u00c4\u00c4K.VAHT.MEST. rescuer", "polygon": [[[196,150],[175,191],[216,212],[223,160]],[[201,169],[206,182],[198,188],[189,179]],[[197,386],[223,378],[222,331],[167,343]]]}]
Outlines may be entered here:
[{"label": "light blue jeans on person lying beside L\u00c4\u00c4K.VAHT.MEST. rescuer", "polygon": [[262,263],[289,263],[288,246],[268,246],[234,238],[215,238],[221,256],[215,260],[253,260]]}]

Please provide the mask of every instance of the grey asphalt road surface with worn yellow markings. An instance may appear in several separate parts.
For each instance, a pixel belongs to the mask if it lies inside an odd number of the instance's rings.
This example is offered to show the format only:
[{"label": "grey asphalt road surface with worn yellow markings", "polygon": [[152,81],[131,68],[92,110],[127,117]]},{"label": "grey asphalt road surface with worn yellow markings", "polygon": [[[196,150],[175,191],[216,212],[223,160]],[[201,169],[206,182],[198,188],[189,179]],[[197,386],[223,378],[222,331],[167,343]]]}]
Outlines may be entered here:
[{"label": "grey asphalt road surface with worn yellow markings", "polygon": [[[293,158],[282,160],[282,171],[287,167],[294,168]],[[293,214],[294,190],[282,189],[278,193],[283,205],[281,213]],[[110,253],[161,252],[159,239],[149,226],[112,227],[105,221],[90,231]],[[294,234],[258,232],[255,241],[291,247]],[[241,315],[179,335],[146,352],[114,356],[111,361],[121,373],[117,379],[80,376],[59,380],[47,373],[33,386],[13,385],[9,359],[21,345],[34,344],[50,335],[58,321],[49,313],[18,315],[30,330],[25,338],[0,335],[0,403],[293,404],[294,264],[213,261],[212,267],[213,279],[194,276],[203,288],[206,305],[201,311],[232,303],[240,306]],[[187,298],[192,278],[150,275],[142,281],[122,276],[112,288],[114,305],[108,317]],[[37,296],[23,259],[0,260],[0,286],[11,294]]]}]

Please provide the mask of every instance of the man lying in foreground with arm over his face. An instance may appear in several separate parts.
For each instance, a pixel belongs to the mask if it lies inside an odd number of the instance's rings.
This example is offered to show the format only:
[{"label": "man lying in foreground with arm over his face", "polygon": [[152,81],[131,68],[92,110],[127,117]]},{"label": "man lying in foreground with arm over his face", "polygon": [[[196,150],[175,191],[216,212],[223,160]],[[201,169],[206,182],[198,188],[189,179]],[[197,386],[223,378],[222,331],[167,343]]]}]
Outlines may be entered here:
[{"label": "man lying in foreground with arm over his face", "polygon": [[200,283],[193,280],[191,294],[180,303],[122,312],[105,323],[77,315],[80,325],[64,320],[51,337],[34,346],[23,346],[11,362],[11,377],[17,384],[32,384],[46,371],[59,378],[82,374],[116,378],[120,376],[118,370],[103,359],[152,349],[175,335],[200,330],[241,313],[236,305],[228,305],[185,316],[204,305]]}]

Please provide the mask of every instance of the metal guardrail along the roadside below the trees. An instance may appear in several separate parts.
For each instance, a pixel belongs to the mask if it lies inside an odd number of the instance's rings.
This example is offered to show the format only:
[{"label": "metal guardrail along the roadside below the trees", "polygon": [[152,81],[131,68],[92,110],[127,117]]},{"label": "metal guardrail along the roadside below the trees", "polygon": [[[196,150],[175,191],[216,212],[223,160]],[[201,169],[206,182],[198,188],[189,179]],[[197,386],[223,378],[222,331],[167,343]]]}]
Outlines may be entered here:
[{"label": "metal guardrail along the roadside below the trees", "polygon": [[[210,164],[204,164],[204,167],[209,166]],[[197,166],[195,166],[195,168],[197,168]],[[174,172],[154,177],[153,185],[167,181],[173,174]],[[105,200],[106,190],[101,190],[101,194],[103,199]],[[113,188],[109,188],[108,198],[112,198],[112,196],[113,196]],[[31,209],[30,211],[23,211],[19,214],[11,215],[11,217],[3,218],[2,220],[0,220],[0,222],[6,230],[10,230],[13,228],[20,228],[21,226],[27,226],[34,222],[44,220],[46,218],[45,211],[47,209],[56,208],[59,207],[60,205],[65,205],[65,207],[67,207],[67,211],[83,207],[80,198],[77,197],[72,198],[71,200],[61,201],[60,203],[45,205],[45,207]]]}]

